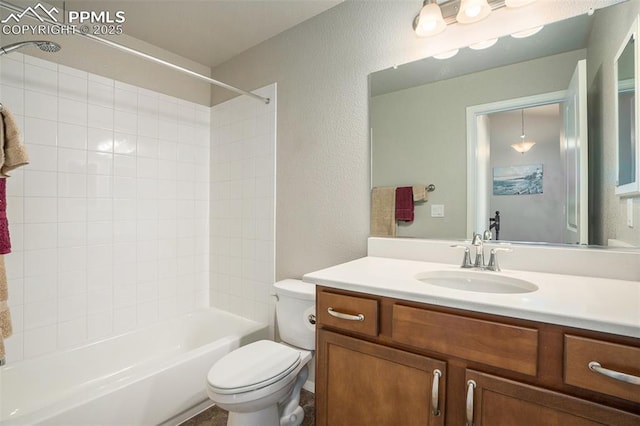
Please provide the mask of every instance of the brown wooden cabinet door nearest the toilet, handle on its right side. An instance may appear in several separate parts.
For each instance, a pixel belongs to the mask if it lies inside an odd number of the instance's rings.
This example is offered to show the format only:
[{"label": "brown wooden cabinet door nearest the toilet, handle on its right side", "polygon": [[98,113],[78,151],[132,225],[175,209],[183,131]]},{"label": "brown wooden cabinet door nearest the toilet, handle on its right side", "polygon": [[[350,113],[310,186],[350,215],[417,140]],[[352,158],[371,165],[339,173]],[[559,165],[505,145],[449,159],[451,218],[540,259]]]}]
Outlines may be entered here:
[{"label": "brown wooden cabinet door nearest the toilet, handle on its right side", "polygon": [[444,425],[444,362],[326,330],[316,359],[318,426]]}]

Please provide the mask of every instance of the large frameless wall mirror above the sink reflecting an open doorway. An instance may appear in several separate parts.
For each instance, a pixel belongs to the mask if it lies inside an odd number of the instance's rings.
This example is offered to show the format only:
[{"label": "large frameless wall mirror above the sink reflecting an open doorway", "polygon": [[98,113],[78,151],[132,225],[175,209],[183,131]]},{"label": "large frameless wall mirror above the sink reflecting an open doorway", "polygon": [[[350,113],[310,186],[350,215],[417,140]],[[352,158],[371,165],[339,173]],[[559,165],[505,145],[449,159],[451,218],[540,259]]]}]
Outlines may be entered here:
[{"label": "large frameless wall mirror above the sink reflecting an open doorway", "polygon": [[435,186],[396,236],[466,239],[498,219],[503,241],[640,247],[614,141],[615,54],[639,12],[622,2],[371,74],[372,188]]}]

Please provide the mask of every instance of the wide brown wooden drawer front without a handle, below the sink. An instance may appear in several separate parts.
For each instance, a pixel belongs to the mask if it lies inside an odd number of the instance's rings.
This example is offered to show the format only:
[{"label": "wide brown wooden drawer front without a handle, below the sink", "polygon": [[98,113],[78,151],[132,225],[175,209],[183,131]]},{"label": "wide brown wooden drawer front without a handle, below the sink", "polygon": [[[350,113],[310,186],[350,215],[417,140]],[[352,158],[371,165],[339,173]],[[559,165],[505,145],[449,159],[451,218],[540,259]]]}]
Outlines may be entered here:
[{"label": "wide brown wooden drawer front without a handle, below the sink", "polygon": [[393,306],[392,338],[398,343],[535,376],[538,330]]}]

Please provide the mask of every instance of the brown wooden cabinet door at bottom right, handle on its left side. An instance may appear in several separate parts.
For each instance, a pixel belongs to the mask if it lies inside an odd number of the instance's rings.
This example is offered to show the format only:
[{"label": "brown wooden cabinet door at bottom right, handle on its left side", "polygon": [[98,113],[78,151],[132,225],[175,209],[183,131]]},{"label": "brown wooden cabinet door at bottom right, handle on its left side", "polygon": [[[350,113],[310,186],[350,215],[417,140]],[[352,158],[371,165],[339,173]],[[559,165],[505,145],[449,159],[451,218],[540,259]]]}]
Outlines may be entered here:
[{"label": "brown wooden cabinet door at bottom right, handle on its left side", "polygon": [[473,370],[466,372],[466,385],[467,425],[640,424],[631,413]]}]

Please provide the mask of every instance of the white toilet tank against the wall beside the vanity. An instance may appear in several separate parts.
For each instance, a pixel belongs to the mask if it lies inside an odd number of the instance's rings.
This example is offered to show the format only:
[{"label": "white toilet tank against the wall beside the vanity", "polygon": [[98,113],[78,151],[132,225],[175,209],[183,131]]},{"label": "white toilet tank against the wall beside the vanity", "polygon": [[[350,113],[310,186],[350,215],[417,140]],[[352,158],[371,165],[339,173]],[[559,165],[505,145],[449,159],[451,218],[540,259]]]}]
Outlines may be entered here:
[{"label": "white toilet tank against the wall beside the vanity", "polygon": [[[276,321],[283,342],[302,349],[316,346],[316,286],[300,280],[283,280],[273,285],[278,300]],[[314,316],[314,324],[309,316]]]}]

